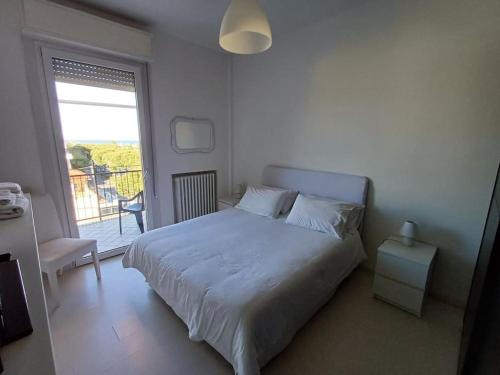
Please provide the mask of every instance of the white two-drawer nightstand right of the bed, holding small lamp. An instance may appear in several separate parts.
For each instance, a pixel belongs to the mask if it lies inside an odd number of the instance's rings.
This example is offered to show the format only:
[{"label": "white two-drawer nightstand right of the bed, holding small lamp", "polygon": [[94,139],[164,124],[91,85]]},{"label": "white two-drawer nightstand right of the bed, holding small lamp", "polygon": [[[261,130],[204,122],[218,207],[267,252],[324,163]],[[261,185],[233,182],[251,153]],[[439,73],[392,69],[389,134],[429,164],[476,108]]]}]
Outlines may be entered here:
[{"label": "white two-drawer nightstand right of the bed, holding small lamp", "polygon": [[415,241],[403,245],[390,237],[378,248],[373,293],[418,317],[430,284],[437,247]]}]

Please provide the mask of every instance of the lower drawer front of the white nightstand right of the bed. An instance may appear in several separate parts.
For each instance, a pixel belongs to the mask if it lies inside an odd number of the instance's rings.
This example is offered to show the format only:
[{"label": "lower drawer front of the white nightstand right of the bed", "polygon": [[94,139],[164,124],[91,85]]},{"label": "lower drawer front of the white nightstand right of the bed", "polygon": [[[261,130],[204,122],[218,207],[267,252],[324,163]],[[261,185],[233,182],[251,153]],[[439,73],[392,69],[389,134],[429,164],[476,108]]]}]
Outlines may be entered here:
[{"label": "lower drawer front of the white nightstand right of the bed", "polygon": [[425,292],[375,274],[373,293],[380,299],[421,316]]}]

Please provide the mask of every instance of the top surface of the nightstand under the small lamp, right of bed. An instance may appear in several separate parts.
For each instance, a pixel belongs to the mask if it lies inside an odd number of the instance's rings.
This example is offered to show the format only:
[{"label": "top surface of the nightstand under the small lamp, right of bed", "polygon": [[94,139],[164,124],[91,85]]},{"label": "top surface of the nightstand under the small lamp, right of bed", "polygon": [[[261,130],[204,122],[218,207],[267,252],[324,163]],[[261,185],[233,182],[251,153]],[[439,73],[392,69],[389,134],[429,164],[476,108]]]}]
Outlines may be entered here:
[{"label": "top surface of the nightstand under the small lamp, right of bed", "polygon": [[437,247],[418,241],[415,241],[414,246],[408,247],[400,242],[399,237],[389,237],[378,251],[428,266],[436,255]]}]

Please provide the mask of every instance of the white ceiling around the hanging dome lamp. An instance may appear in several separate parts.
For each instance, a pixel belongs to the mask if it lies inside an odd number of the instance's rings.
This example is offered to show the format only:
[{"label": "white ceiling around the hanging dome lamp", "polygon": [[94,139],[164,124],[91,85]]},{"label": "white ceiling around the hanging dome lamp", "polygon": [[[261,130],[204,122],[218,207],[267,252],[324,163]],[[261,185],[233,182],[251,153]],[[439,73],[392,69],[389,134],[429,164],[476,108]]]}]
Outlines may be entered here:
[{"label": "white ceiling around the hanging dome lamp", "polygon": [[[71,0],[53,0],[68,3]],[[287,33],[373,0],[260,0],[274,35]],[[230,0],[75,0],[151,30],[219,49],[219,26]]]}]

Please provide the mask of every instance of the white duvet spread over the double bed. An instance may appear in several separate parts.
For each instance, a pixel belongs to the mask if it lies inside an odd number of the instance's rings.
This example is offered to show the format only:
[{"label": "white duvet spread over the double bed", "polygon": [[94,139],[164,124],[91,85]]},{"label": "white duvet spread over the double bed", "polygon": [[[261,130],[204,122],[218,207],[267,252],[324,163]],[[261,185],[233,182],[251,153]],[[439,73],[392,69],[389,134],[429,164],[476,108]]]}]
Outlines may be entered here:
[{"label": "white duvet spread over the double bed", "polygon": [[138,237],[123,257],[240,375],[260,373],[365,259],[344,240],[238,209]]}]

